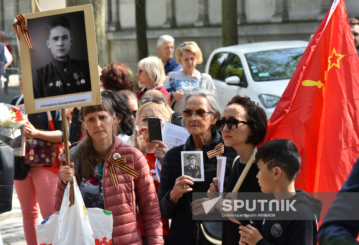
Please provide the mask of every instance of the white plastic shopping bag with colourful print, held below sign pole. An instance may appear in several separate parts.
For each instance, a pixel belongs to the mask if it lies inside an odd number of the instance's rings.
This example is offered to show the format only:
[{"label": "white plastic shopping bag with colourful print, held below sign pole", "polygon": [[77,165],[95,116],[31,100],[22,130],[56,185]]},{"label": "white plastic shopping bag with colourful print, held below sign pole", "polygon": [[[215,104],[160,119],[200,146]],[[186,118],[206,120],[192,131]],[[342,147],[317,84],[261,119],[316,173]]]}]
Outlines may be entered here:
[{"label": "white plastic shopping bag with colourful print, held below sign pole", "polygon": [[[75,177],[73,177],[76,183]],[[112,212],[101,208],[85,208],[80,189],[74,188],[74,205],[69,207],[70,187],[66,185],[60,211],[35,227],[40,245],[111,244]],[[91,222],[92,220],[92,222]]]}]

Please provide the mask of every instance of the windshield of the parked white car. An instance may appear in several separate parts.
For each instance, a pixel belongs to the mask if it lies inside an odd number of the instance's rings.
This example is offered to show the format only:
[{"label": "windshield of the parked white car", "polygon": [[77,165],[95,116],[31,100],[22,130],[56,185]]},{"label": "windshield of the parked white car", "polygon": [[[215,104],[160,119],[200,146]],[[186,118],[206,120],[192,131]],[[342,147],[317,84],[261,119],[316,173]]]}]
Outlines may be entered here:
[{"label": "windshield of the parked white car", "polygon": [[290,79],[306,48],[286,48],[245,54],[254,81]]}]

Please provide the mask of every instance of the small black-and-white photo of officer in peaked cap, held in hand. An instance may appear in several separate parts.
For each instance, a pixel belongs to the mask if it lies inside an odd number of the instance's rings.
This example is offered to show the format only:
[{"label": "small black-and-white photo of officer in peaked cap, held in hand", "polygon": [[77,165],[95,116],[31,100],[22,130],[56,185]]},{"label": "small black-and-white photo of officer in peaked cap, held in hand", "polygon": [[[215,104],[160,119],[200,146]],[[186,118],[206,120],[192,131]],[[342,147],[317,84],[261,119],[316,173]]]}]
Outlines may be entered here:
[{"label": "small black-and-white photo of officer in peaked cap, held in hand", "polygon": [[194,181],[204,181],[203,152],[182,151],[182,174],[188,175]]}]

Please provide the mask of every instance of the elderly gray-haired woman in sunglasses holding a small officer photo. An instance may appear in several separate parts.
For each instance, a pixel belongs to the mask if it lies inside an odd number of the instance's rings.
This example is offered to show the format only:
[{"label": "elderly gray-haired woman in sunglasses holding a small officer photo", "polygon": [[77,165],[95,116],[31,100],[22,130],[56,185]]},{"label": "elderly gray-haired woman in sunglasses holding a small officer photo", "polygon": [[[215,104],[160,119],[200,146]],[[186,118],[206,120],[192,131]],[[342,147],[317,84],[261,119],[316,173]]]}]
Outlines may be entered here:
[{"label": "elderly gray-haired woman in sunglasses holding a small officer photo", "polygon": [[[162,217],[172,219],[170,244],[196,244],[197,225],[191,215],[192,193],[207,192],[212,179],[216,177],[216,156],[227,157],[225,176],[229,176],[236,150],[224,146],[221,135],[212,130],[216,121],[221,118],[212,90],[197,87],[188,92],[182,113],[183,126],[191,135],[184,145],[172,148],[165,155],[158,200]],[[192,177],[182,175],[181,151],[203,151],[205,181],[193,182]],[[201,241],[198,242],[201,244]]]}]

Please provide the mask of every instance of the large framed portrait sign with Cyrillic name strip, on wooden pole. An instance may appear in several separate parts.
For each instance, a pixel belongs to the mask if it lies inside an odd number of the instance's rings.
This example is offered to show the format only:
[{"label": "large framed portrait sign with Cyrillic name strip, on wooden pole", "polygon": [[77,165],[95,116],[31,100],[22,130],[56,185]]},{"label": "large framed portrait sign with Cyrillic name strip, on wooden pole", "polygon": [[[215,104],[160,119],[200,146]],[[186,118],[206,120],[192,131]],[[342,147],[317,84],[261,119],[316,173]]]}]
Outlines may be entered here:
[{"label": "large framed portrait sign with Cyrillic name strip, on wooden pole", "polygon": [[19,35],[25,112],[101,104],[92,5],[24,18],[34,45]]}]

